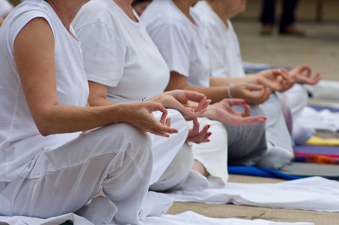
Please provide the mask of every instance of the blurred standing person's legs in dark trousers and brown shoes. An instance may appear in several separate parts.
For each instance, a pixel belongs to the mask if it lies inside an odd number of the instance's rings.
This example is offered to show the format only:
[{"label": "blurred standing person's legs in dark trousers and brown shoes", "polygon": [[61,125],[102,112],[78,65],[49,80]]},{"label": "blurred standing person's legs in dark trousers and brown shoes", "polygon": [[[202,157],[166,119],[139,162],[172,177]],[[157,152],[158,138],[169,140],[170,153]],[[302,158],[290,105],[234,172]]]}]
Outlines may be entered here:
[{"label": "blurred standing person's legs in dark trousers and brown shoes", "polygon": [[[304,36],[305,33],[293,24],[295,21],[295,9],[298,0],[283,0],[283,11],[279,24],[279,34]],[[276,0],[263,0],[261,22],[263,27],[262,35],[271,35],[275,24]]]}]

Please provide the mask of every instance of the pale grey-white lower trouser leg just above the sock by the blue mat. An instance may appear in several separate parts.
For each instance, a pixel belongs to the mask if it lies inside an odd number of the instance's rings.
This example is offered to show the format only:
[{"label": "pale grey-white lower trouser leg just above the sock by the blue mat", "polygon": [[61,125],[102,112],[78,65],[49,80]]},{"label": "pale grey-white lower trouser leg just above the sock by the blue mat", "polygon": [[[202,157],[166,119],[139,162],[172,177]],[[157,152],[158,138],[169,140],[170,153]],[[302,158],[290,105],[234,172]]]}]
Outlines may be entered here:
[{"label": "pale grey-white lower trouser leg just above the sock by the blue mat", "polygon": [[262,104],[262,109],[267,117],[266,140],[293,152],[293,140],[287,128],[278,96],[275,93],[271,94],[270,98]]}]

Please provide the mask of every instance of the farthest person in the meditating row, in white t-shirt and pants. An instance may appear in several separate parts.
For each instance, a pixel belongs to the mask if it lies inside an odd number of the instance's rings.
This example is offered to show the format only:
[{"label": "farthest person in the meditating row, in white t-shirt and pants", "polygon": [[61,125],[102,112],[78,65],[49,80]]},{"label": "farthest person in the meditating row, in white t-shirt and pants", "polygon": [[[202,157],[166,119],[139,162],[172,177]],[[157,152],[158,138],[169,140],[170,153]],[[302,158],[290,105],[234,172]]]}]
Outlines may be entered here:
[{"label": "farthest person in the meditating row, in white t-shirt and pants", "polygon": [[[245,10],[246,2],[244,0],[208,0],[199,1],[194,6],[204,24],[204,34],[206,35],[212,65],[212,76],[216,79],[247,77],[248,79],[256,78],[260,81],[262,80],[260,74],[267,71],[263,70],[256,75],[246,75],[242,66],[238,37],[230,19]],[[293,124],[308,101],[308,95],[302,84],[314,85],[320,81],[321,76],[320,73],[317,73],[312,77],[312,70],[308,65],[298,66],[290,70],[288,75],[295,77],[295,82],[292,83],[293,87],[290,89],[279,90],[270,83],[262,84],[277,91],[276,94],[283,106],[285,119],[294,141],[298,144],[304,144],[315,131],[305,126]],[[272,106],[266,107],[265,113],[266,115],[268,113],[268,118],[271,117],[269,115],[271,112]]]}]

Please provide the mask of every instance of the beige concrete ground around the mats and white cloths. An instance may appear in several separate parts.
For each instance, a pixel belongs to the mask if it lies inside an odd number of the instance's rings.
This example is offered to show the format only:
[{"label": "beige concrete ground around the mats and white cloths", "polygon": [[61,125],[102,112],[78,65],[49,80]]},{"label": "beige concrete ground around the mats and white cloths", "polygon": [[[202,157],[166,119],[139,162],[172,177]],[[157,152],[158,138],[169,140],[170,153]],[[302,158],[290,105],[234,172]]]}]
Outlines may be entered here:
[{"label": "beige concrete ground around the mats and white cloths", "polygon": [[[324,79],[339,81],[339,24],[299,23],[307,31],[304,38],[283,37],[277,34],[260,36],[257,22],[235,21],[242,57],[245,61],[270,63],[274,66],[309,64],[321,71]],[[339,94],[339,93],[338,93]],[[319,103],[319,101],[318,101]],[[338,138],[338,134],[318,132],[323,138]],[[230,182],[275,183],[279,179],[231,175]],[[338,225],[339,213],[271,209],[263,207],[214,205],[201,203],[175,203],[167,213],[194,211],[214,218],[265,219],[277,222],[313,222],[316,225]]]}]

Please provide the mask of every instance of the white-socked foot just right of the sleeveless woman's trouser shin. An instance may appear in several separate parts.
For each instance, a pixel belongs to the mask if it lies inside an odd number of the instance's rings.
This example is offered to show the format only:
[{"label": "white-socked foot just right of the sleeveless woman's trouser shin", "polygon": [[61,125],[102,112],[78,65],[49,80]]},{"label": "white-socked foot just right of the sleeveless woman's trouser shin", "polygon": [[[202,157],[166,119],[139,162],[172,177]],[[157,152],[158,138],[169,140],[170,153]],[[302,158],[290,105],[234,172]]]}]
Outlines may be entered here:
[{"label": "white-socked foot just right of the sleeveless woman's trouser shin", "polygon": [[160,217],[173,205],[171,197],[163,193],[148,191],[140,217]]}]

